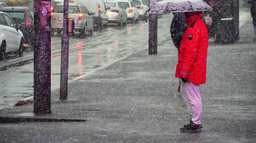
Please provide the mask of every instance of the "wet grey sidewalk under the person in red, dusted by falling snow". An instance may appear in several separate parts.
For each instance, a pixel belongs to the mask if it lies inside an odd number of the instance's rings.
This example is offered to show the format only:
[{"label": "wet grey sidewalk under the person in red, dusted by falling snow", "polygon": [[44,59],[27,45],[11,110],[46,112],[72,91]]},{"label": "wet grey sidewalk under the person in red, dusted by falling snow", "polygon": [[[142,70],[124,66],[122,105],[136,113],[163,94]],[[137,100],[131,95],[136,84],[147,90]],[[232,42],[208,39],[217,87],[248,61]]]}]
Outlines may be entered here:
[{"label": "wet grey sidewalk under the person in red, dusted by falling snow", "polygon": [[0,121],[20,121],[1,124],[0,142],[254,143],[256,35],[251,19],[241,21],[238,41],[208,47],[202,132],[180,132],[189,114],[167,39],[157,55],[146,49],[69,83],[67,100],[54,90],[52,114],[34,116],[33,104],[0,110]]}]

